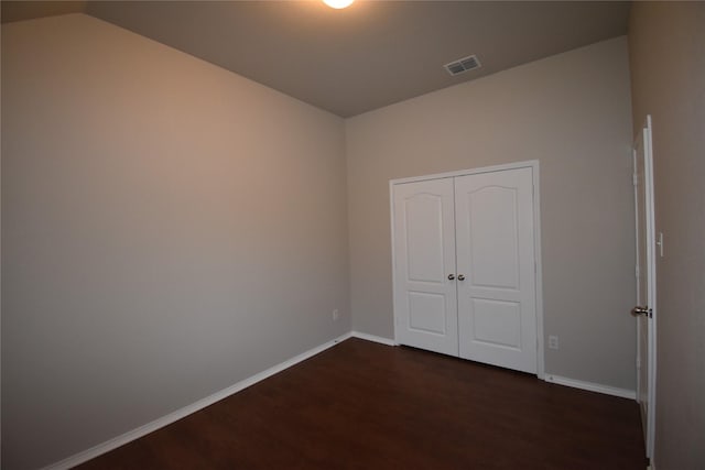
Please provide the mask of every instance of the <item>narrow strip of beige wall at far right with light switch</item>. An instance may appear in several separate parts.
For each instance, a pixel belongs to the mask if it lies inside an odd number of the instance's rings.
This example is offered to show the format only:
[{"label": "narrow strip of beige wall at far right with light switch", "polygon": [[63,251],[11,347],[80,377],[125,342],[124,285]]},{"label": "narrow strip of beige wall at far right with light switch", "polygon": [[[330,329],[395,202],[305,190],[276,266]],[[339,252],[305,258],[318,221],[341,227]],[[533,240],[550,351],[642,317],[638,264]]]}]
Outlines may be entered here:
[{"label": "narrow strip of beige wall at far right with light switch", "polygon": [[655,467],[705,467],[705,3],[636,2],[634,132],[651,114],[657,262]]}]

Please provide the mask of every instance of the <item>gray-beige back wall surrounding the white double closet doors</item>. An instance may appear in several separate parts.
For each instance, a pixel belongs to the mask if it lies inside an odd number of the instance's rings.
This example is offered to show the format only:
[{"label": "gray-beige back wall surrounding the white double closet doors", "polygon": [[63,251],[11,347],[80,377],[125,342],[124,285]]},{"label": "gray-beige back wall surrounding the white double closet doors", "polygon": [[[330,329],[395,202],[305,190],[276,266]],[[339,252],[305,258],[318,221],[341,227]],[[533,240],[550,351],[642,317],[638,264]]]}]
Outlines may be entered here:
[{"label": "gray-beige back wall surrounding the white double closet doors", "polygon": [[346,121],[352,327],[392,338],[388,182],[539,160],[546,372],[634,387],[627,39]]}]

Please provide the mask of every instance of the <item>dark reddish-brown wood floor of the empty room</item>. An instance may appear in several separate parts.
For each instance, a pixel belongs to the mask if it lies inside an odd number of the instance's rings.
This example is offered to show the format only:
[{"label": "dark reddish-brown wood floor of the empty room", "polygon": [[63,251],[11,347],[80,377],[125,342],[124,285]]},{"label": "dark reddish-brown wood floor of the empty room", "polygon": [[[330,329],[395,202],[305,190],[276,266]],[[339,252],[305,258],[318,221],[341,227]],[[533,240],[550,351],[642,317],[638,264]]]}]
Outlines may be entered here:
[{"label": "dark reddish-brown wood floor of the empty room", "polygon": [[80,469],[646,469],[638,405],[349,339]]}]

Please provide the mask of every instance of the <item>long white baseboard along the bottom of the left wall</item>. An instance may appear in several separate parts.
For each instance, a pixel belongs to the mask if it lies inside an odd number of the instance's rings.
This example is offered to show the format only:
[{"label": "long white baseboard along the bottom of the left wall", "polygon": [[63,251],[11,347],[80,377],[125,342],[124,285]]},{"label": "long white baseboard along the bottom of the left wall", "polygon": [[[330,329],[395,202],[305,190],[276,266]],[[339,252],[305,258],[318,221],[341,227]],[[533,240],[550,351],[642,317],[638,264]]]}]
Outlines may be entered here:
[{"label": "long white baseboard along the bottom of the left wall", "polygon": [[291,358],[284,362],[281,362],[274,367],[267,369],[258,374],[254,374],[248,379],[245,379],[234,385],[228,386],[219,392],[214,393],[210,396],[207,396],[203,400],[197,401],[196,403],[192,403],[191,405],[184,406],[183,408],[176,409],[173,413],[170,413],[166,416],[162,416],[161,418],[154,419],[151,423],[148,423],[143,426],[140,426],[135,429],[129,430],[121,436],[113,437],[112,439],[106,440],[105,442],[98,444],[97,446],[91,447],[90,449],[84,450],[82,452],[75,453],[64,460],[61,460],[56,463],[52,463],[47,467],[44,467],[43,470],[66,470],[73,467],[76,467],[80,463],[84,463],[90,459],[94,459],[102,453],[106,453],[110,450],[117,449],[120,446],[124,446],[132,440],[139,439],[140,437],[147,436],[150,433],[155,431],[164,426],[167,426],[172,423],[177,422],[178,419],[186,417],[193,413],[196,413],[199,409],[205,408],[206,406],[210,406],[216,402],[219,402],[223,398],[226,398],[241,390],[247,389],[248,386],[254,385],[257,382],[260,382],[267,378],[274,375],[285,369],[291,368],[292,365],[297,364],[299,362],[305,361],[328,348],[334,347],[338,342],[345,341],[350,338],[352,334],[347,332],[338,338],[325,342],[316,348],[310,349],[308,351],[302,352],[301,354]]}]

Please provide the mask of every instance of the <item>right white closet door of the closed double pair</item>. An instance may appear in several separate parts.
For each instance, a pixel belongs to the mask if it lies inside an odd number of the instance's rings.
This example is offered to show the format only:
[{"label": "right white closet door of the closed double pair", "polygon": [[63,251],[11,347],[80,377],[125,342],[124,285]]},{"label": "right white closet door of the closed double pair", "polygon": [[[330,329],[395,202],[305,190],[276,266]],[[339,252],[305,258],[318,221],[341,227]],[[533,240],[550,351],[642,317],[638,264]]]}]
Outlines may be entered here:
[{"label": "right white closet door of the closed double pair", "polygon": [[455,210],[459,356],[535,373],[532,170],[456,177]]}]

